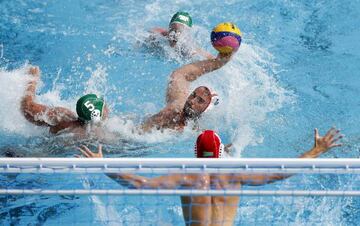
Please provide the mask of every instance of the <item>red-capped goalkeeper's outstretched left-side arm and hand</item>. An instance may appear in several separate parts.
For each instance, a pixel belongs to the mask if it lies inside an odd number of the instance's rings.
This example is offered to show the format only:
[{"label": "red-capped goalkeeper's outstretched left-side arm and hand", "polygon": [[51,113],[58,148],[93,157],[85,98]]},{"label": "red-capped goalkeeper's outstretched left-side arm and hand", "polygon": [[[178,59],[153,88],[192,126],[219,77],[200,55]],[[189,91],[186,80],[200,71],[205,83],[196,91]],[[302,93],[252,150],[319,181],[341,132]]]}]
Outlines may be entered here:
[{"label": "red-capped goalkeeper's outstretched left-side arm and hand", "polygon": [[[98,152],[94,153],[86,146],[82,145],[78,150],[86,158],[103,158],[102,147],[98,146]],[[131,188],[164,188],[172,189],[179,186],[197,186],[201,178],[196,175],[172,174],[154,178],[147,178],[128,173],[108,173],[106,174],[122,186]]]}]

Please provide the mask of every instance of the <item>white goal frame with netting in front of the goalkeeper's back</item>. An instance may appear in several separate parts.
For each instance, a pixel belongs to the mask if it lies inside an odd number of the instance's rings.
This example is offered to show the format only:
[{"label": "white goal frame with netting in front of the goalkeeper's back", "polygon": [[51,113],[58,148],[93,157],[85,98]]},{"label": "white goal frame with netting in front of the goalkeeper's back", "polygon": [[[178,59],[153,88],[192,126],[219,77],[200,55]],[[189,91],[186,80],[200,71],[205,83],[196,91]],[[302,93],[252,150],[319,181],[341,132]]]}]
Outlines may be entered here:
[{"label": "white goal frame with netting in front of the goalkeeper's back", "polygon": [[[11,224],[19,208],[24,215],[30,208],[36,221],[45,206],[56,212],[46,218],[49,225],[183,225],[179,197],[239,197],[235,204],[222,204],[224,210],[235,205],[234,225],[346,225],[359,220],[359,174],[360,159],[0,158],[0,223]],[[133,175],[136,183],[166,180],[159,186],[127,186],[129,178],[114,181],[107,175]],[[211,181],[206,187],[197,181],[169,187],[173,175],[206,175]],[[234,177],[218,186],[223,175]],[[256,186],[234,179],[264,175],[285,176]],[[89,217],[78,218],[78,213]],[[15,215],[25,223],[26,217]]]}]

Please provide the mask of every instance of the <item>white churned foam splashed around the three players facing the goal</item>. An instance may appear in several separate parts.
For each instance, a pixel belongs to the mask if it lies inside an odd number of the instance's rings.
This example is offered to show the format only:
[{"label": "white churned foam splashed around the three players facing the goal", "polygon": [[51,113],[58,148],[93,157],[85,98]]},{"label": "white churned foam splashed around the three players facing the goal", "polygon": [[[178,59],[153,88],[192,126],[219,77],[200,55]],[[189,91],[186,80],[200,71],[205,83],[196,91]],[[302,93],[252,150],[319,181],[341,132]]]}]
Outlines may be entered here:
[{"label": "white churned foam splashed around the three players facing the goal", "polygon": [[[183,2],[185,5],[187,3]],[[144,26],[151,27],[154,21],[159,20],[157,16],[168,18],[169,15],[163,13],[176,11],[176,9],[161,9],[156,7],[159,2],[148,4],[145,10],[148,11],[144,21]],[[128,19],[129,27],[137,24],[134,18]],[[119,27],[113,37],[114,42],[111,42],[108,46],[108,50],[115,48],[116,42],[126,41],[133,45],[136,45],[138,41],[144,41],[144,38],[149,33],[142,27],[136,27],[137,32],[127,31],[124,29],[126,26]],[[120,35],[121,34],[121,35]],[[210,46],[209,29],[201,26],[194,25],[193,27],[193,39],[199,46]],[[134,39],[135,37],[135,39]],[[284,104],[289,104],[293,101],[290,93],[281,87],[280,84],[274,79],[276,73],[276,63],[272,55],[266,50],[256,44],[251,44],[253,40],[244,39],[244,43],[241,45],[238,53],[235,54],[233,59],[218,71],[210,73],[198,79],[192,84],[192,89],[199,85],[206,85],[216,91],[221,98],[220,104],[211,112],[204,114],[204,117],[200,120],[200,127],[202,129],[215,129],[220,132],[221,136],[226,142],[232,142],[236,147],[235,156],[240,156],[241,151],[248,145],[256,145],[262,142],[262,136],[256,134],[256,128],[260,126],[267,118],[268,113],[277,111]],[[166,46],[166,45],[165,45]],[[96,48],[96,47],[93,47]],[[179,62],[179,66],[189,63],[195,58],[182,58],[171,48],[164,48],[165,58],[176,60]],[[214,52],[214,50],[212,50]],[[106,56],[108,51],[104,50],[103,54]],[[91,58],[90,55],[87,58]],[[79,61],[79,59],[77,60]],[[74,62],[77,65],[77,62]],[[24,90],[25,67],[6,72],[2,71],[1,79],[4,85],[4,92],[6,97],[6,103],[11,106],[7,112],[0,111],[0,116],[8,119],[7,123],[1,125],[1,129],[7,130],[11,133],[19,133],[25,136],[38,136],[44,133],[45,129],[39,128],[28,123],[19,111],[19,100]],[[111,92],[108,87],[111,85],[108,82],[108,66],[100,63],[95,67],[86,67],[85,70],[90,73],[87,81],[84,82],[84,93],[97,93],[100,95]],[[61,70],[58,71],[57,78],[60,76]],[[79,73],[79,72],[77,72]],[[170,74],[171,71],[168,72]],[[10,76],[14,74],[15,76]],[[73,79],[70,77],[70,80]],[[86,79],[86,77],[82,77]],[[62,98],[61,93],[66,92],[66,87],[61,83],[57,83],[58,79],[53,80],[52,88],[45,93],[37,95],[37,100],[40,103],[50,106],[63,106],[67,107],[75,112],[75,104],[78,96],[70,96],[69,98]],[[219,82],[221,81],[221,82]],[[164,81],[167,83],[167,81]],[[22,84],[17,87],[16,91],[9,90],[15,83]],[[41,90],[39,87],[38,90]],[[14,95],[5,95],[5,93],[14,93]],[[106,96],[105,96],[106,98]],[[121,99],[121,96],[118,97]],[[114,103],[110,101],[107,103],[110,108],[114,106]],[[155,113],[160,109],[152,103],[143,103],[145,108],[148,109],[148,113]],[[10,110],[11,109],[11,110]],[[9,112],[10,111],[10,112]],[[9,117],[15,116],[15,117]],[[183,135],[179,136],[178,133],[173,131],[154,131],[148,134],[139,134],[136,131],[137,125],[143,120],[143,115],[135,115],[132,117],[129,114],[123,114],[122,112],[111,114],[109,120],[105,123],[106,128],[118,135],[119,139],[129,139],[136,142],[157,143],[165,142],[173,139],[175,136],[178,141],[187,140],[190,137],[196,136],[197,132],[191,131],[189,126]],[[219,122],[222,122],[221,124]],[[34,133],[34,128],[37,133]]]}]

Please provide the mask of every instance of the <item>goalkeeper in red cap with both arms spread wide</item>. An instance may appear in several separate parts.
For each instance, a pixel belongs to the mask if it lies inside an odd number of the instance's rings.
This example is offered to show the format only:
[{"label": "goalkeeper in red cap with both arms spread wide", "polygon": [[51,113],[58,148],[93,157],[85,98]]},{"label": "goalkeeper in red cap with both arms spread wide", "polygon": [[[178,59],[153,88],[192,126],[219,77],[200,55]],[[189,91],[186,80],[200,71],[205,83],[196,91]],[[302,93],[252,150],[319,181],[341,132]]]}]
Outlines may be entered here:
[{"label": "goalkeeper in red cap with both arms spread wide", "polygon": [[[314,147],[300,158],[317,158],[333,147],[342,138],[339,131],[332,128],[324,137],[315,129]],[[197,158],[221,158],[223,145],[220,137],[211,130],[204,131],[197,138],[195,156]],[[79,148],[87,158],[102,158],[101,146],[98,153],[86,146]],[[204,161],[206,161],[204,159]],[[291,177],[290,174],[172,174],[147,178],[133,174],[107,174],[119,184],[129,188],[142,189],[241,189],[242,185],[259,186]],[[239,196],[182,196],[182,210],[185,225],[233,225],[238,209]]]}]

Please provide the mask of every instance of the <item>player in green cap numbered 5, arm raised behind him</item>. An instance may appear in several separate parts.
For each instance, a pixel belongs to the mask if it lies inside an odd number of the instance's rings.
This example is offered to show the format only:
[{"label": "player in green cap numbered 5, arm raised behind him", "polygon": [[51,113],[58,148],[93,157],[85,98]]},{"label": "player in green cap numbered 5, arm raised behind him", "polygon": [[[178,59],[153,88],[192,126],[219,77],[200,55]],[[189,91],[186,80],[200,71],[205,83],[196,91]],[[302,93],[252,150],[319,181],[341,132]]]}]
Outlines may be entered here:
[{"label": "player in green cap numbered 5, arm raised behind him", "polygon": [[87,125],[99,125],[108,115],[103,98],[95,94],[81,97],[76,104],[76,112],[63,107],[49,107],[35,101],[35,91],[40,78],[40,69],[30,67],[32,80],[27,84],[25,95],[21,101],[21,110],[25,118],[38,126],[47,126],[50,132],[58,134],[62,131],[85,135]]}]

